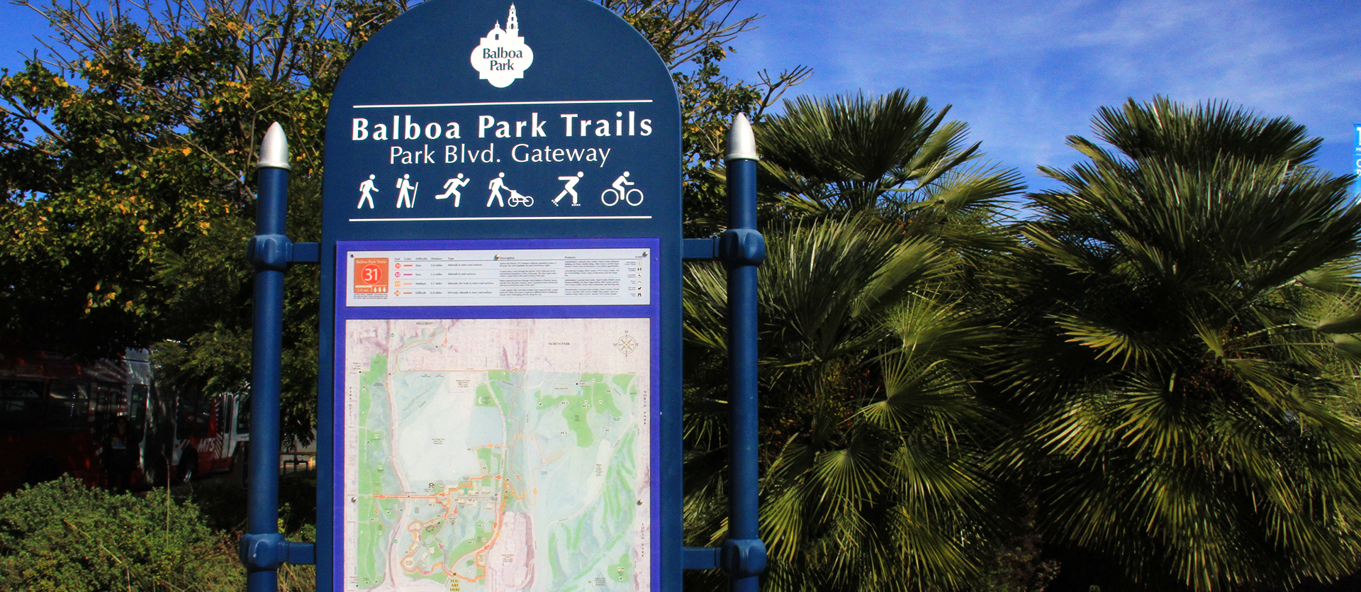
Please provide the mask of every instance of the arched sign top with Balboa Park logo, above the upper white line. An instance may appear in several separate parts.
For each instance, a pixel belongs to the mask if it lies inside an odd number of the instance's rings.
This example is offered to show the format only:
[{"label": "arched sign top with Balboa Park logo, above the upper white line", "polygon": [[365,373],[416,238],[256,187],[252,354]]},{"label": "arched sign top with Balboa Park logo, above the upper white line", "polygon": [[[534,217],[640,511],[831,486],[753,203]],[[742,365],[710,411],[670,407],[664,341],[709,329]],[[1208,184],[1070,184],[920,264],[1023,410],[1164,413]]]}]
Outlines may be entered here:
[{"label": "arched sign top with Balboa Park logo, above the upper white line", "polygon": [[373,35],[350,60],[336,97],[370,105],[441,97],[446,102],[660,101],[659,87],[672,87],[661,57],[596,3],[433,0]]}]

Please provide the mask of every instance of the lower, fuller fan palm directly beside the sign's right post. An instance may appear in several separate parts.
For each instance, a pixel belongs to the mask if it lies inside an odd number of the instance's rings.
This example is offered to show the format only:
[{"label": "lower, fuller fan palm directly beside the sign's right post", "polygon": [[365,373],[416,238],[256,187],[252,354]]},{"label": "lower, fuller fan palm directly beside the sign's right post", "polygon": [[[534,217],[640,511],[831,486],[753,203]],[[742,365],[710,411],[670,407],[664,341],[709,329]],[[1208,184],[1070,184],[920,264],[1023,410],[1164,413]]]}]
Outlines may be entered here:
[{"label": "lower, fuller fan palm directly beside the sign's right post", "polygon": [[[998,430],[973,397],[979,327],[957,259],[872,215],[766,229],[761,269],[762,538],[768,591],[957,588],[995,539],[983,472]],[[724,274],[686,278],[687,333],[724,347]],[[700,389],[695,389],[700,391]],[[721,389],[687,407],[689,529],[724,538]]]}]

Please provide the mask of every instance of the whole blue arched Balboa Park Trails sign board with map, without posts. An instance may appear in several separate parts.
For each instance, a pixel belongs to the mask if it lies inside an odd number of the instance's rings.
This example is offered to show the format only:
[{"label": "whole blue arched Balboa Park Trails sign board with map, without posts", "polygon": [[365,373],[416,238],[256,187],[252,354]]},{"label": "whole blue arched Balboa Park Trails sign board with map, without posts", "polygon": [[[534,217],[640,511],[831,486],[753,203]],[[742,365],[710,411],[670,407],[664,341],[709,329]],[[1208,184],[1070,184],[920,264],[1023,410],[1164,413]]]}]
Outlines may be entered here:
[{"label": "whole blue arched Balboa Park Trails sign board with map, without posts", "polygon": [[434,0],[327,121],[320,589],[680,589],[680,121],[587,0]]}]

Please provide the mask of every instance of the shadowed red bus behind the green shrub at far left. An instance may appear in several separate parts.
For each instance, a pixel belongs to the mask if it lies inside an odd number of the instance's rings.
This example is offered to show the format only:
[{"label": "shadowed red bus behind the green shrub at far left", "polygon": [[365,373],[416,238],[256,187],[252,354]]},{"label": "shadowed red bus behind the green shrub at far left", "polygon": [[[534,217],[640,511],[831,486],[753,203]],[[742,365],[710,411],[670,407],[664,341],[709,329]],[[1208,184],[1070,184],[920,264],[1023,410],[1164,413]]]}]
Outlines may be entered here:
[{"label": "shadowed red bus behind the green shrub at far left", "polygon": [[63,474],[91,486],[147,487],[244,467],[244,403],[237,393],[158,389],[146,350],[80,363],[3,348],[0,493]]}]

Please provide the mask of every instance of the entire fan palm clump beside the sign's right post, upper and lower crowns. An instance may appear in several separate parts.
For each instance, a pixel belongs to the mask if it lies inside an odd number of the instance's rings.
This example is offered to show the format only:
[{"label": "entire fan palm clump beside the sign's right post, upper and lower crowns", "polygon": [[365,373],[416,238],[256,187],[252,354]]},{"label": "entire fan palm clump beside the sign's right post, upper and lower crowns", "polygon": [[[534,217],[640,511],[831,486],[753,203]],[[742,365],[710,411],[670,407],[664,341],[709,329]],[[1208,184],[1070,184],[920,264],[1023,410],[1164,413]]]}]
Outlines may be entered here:
[{"label": "entire fan palm clump beside the sign's right post, upper and lower crowns", "polygon": [[[759,275],[766,589],[960,588],[1006,523],[984,471],[1000,430],[973,393],[995,331],[966,289],[1011,245],[1019,176],[966,167],[979,146],[943,116],[896,91],[799,98],[757,127],[777,218]],[[724,298],[720,267],[687,271],[693,544],[725,535]]]}]

